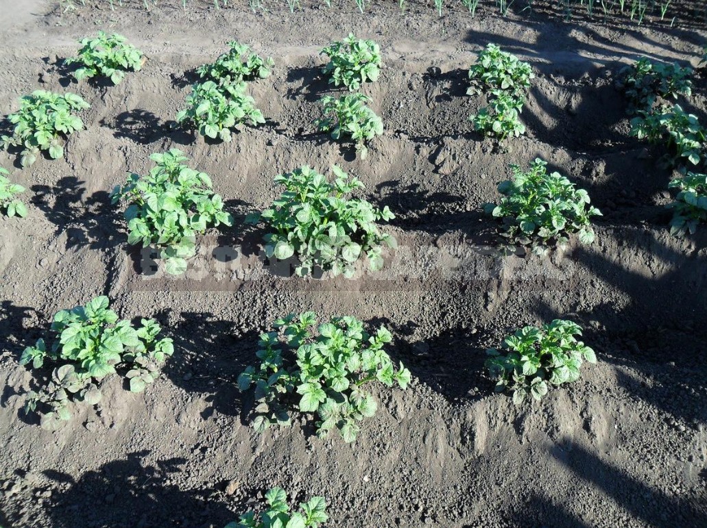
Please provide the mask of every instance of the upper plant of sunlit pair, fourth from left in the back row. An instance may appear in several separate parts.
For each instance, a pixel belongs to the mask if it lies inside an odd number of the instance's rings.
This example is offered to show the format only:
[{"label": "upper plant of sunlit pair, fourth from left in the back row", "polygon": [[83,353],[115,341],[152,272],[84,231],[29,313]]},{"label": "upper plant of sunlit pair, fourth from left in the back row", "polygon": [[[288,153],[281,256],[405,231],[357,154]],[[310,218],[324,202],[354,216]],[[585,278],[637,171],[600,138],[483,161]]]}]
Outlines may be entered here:
[{"label": "upper plant of sunlit pair, fourth from left in the back row", "polygon": [[525,99],[534,78],[532,68],[517,56],[501,51],[496,44],[488,44],[477,57],[476,64],[469,68],[471,86],[467,95],[503,90],[516,100]]}]

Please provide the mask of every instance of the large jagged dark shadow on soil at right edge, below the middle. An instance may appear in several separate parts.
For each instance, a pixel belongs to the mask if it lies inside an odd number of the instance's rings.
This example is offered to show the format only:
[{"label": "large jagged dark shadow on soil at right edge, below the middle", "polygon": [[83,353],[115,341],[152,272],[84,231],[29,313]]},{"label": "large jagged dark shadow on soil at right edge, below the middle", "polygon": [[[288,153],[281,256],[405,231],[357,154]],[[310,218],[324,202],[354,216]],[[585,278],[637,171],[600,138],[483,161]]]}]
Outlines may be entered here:
[{"label": "large jagged dark shadow on soil at right edge, below the middle", "polygon": [[[621,241],[619,246],[631,248],[633,263],[612,261],[606,253],[583,247],[576,248],[571,258],[578,263],[578,272],[629,296],[626,306],[617,308],[607,301],[567,314],[559,313],[547,301],[537,301],[534,309],[547,321],[569,317],[594,321],[595,328],[583,325],[587,329],[584,340],[607,352],[602,361],[641,373],[641,380],[634,380],[618,371],[617,380],[624,389],[688,425],[707,422],[705,370],[701,363],[696,365],[696,358],[707,349],[707,296],[701,294],[701,284],[707,280],[707,260],[699,251],[689,256],[679,253],[651,232],[617,229],[615,236]],[[699,233],[694,240],[697,247],[706,247],[707,233]],[[653,256],[670,268],[658,277],[646,276],[641,272],[642,255]],[[645,380],[653,380],[655,386],[645,385]]]}]

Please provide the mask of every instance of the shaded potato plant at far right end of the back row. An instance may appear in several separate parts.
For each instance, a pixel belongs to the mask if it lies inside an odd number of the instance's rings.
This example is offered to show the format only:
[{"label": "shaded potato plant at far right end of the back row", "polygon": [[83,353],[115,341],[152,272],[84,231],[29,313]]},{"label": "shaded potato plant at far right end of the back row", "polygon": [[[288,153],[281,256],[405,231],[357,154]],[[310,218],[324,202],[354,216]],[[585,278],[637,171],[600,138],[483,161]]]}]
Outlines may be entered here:
[{"label": "shaded potato plant at far right end of the back row", "polygon": [[678,64],[652,62],[649,59],[638,59],[634,64],[625,66],[619,71],[619,88],[624,90],[629,100],[626,112],[650,112],[658,97],[678,95],[689,96],[692,93],[692,68],[682,68]]}]

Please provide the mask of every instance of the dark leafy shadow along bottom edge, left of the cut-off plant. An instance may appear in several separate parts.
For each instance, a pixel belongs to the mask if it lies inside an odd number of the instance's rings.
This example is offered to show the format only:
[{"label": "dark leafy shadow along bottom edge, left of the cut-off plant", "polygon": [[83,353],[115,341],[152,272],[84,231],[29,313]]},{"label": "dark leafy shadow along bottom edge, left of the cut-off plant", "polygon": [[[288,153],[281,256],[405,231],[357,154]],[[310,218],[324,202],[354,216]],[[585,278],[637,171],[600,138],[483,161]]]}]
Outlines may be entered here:
[{"label": "dark leafy shadow along bottom edge, left of the cut-off plant", "polygon": [[182,489],[187,459],[146,462],[148,450],[103,464],[78,481],[59,470],[44,472],[53,481],[47,515],[56,527],[211,527],[224,526],[234,513],[213,490]]}]

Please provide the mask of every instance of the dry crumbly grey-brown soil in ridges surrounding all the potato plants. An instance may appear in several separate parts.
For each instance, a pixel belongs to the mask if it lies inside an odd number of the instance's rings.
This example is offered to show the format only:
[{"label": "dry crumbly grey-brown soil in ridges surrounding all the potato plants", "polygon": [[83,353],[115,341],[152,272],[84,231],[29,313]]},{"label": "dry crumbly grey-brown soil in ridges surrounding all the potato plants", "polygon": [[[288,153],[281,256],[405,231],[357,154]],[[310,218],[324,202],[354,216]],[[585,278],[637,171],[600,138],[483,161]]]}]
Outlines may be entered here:
[{"label": "dry crumbly grey-brown soil in ridges surrounding all the potato plants", "polygon": [[[133,3],[64,16],[45,1],[16,4],[0,2],[0,114],[37,88],[73,90],[91,109],[65,160],[20,170],[0,155],[30,209],[0,219],[1,526],[222,527],[276,485],[293,500],[325,496],[332,527],[707,525],[707,230],[668,234],[672,175],[658,168],[660,148],[629,138],[613,85],[638,56],[696,66],[703,26],[460,9],[438,18],[423,4],[405,16],[395,4],[358,15],[353,4],[254,14]],[[144,69],[117,87],[71,83],[60,59],[99,28],[127,35]],[[312,126],[328,90],[317,53],[349,31],[375,38],[385,59],[365,92],[386,130],[363,161]],[[268,122],[206,145],[173,119],[188,72],[233,38],[276,61],[251,87]],[[537,73],[527,136],[507,149],[467,121],[484,102],[465,95],[466,72],[487,42]],[[688,104],[702,120],[706,86],[699,73]],[[152,152],[173,147],[211,174],[238,218],[204,237],[177,279],[127,247],[108,200],[125,172],[146,172]],[[479,205],[497,198],[508,164],[535,157],[589,191],[604,212],[597,241],[502,258]],[[275,174],[334,163],[396,213],[400,248],[380,275],[288,277],[240,220],[278,196]],[[109,378],[97,409],[43,431],[21,410],[33,376],[19,354],[56,311],[98,294],[122,317],[158,318],[177,352],[144,394]],[[386,323],[390,354],[413,373],[407,391],[376,392],[378,414],[354,445],[320,440],[301,420],[262,436],[247,425],[252,397],[235,379],[254,362],[257,334],[304,310]],[[599,363],[520,409],[493,394],[484,349],[556,317],[583,325]]]}]

